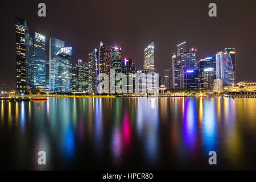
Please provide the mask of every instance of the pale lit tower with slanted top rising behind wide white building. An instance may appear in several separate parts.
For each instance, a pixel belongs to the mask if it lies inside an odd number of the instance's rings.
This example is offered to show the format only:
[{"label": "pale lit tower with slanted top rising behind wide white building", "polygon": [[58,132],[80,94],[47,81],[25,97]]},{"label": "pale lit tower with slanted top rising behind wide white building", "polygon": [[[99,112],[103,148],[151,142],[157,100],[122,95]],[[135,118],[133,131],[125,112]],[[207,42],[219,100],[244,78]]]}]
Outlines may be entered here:
[{"label": "pale lit tower with slanted top rising behind wide white building", "polygon": [[143,69],[155,69],[155,47],[154,42],[151,42],[144,49],[144,64]]}]

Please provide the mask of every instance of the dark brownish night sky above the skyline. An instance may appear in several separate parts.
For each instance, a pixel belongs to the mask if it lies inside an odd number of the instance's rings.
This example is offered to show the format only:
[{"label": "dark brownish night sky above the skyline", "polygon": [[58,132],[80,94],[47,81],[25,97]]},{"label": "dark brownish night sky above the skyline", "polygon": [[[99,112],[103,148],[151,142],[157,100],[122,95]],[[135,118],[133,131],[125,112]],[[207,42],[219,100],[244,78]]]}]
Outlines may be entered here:
[{"label": "dark brownish night sky above the skyline", "polygon": [[[38,16],[38,3],[47,7]],[[208,16],[210,2],[217,4],[217,17]],[[186,41],[197,48],[197,60],[226,47],[236,48],[237,81],[256,81],[256,1],[171,0],[0,0],[0,84],[15,86],[15,16],[27,22],[30,33],[48,40],[55,37],[73,47],[73,65],[87,60],[87,52],[106,46],[122,47],[122,57],[133,59],[142,69],[143,50],[155,43],[155,68],[163,76],[170,67],[176,45]],[[0,87],[1,87],[0,85]]]}]

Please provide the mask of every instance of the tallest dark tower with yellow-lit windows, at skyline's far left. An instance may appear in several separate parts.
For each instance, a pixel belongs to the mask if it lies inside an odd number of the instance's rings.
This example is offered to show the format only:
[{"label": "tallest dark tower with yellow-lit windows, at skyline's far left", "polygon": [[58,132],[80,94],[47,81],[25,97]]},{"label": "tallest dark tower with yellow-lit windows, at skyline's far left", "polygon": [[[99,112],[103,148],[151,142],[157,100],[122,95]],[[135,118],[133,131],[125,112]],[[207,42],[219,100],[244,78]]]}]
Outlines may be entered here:
[{"label": "tallest dark tower with yellow-lit windows, at skyline's far left", "polygon": [[32,66],[30,39],[26,21],[15,19],[16,35],[16,90],[18,93],[25,93],[27,86],[32,85]]}]

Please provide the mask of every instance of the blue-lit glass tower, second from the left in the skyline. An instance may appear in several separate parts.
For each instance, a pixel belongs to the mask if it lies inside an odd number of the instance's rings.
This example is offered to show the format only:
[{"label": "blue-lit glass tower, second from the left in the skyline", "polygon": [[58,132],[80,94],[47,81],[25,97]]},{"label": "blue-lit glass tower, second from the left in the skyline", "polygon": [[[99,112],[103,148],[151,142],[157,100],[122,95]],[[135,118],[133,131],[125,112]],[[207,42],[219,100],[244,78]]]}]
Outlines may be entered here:
[{"label": "blue-lit glass tower, second from the left in the skyline", "polygon": [[46,87],[46,36],[35,32],[33,38],[33,81],[35,88]]}]

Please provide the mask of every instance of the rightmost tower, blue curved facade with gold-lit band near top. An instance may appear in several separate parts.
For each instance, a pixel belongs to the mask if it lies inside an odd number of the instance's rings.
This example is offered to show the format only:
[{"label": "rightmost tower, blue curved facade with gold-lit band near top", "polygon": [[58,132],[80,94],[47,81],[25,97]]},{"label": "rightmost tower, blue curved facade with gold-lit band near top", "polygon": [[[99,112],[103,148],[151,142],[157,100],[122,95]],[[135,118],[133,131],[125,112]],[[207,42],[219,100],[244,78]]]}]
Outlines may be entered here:
[{"label": "rightmost tower, blue curved facade with gold-lit band near top", "polygon": [[236,51],[234,48],[224,49],[224,86],[236,84]]}]

